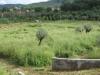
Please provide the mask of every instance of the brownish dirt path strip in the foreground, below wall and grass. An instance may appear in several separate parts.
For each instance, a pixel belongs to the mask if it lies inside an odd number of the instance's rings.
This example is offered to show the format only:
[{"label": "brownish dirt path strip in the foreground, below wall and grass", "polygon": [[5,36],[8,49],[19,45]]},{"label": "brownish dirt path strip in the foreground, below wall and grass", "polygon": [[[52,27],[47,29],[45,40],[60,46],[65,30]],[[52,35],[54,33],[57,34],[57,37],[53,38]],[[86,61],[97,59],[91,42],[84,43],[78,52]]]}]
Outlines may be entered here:
[{"label": "brownish dirt path strip in the foreground, below wall and grass", "polygon": [[52,72],[48,68],[21,67],[13,65],[4,59],[0,59],[2,65],[9,75],[17,75],[18,72],[23,72],[25,75],[100,75],[100,69],[70,71],[70,72]]}]

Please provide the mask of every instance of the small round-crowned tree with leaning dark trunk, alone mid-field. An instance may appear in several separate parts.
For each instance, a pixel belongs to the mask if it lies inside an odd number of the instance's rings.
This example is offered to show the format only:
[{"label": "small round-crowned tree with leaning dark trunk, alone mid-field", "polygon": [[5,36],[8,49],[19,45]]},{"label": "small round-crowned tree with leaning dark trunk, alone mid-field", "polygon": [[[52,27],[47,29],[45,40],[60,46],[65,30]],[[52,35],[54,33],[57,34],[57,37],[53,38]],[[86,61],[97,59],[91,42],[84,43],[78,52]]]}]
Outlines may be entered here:
[{"label": "small round-crowned tree with leaning dark trunk, alone mid-field", "polygon": [[44,29],[38,29],[38,31],[36,32],[36,37],[39,40],[39,44],[41,45],[42,40],[47,36],[47,32]]}]

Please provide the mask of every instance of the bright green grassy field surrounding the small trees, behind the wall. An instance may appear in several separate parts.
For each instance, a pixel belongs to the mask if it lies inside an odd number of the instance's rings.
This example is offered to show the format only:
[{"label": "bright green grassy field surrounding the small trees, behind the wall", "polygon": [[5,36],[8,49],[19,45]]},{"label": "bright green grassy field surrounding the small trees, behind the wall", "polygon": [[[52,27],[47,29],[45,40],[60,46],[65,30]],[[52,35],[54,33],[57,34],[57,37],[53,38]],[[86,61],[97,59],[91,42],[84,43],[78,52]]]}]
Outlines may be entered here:
[{"label": "bright green grassy field surrounding the small trees, behind the wall", "polygon": [[[76,32],[82,25],[92,25],[90,33]],[[38,46],[36,32],[43,28],[48,36]],[[21,66],[49,66],[57,52],[69,58],[100,58],[99,21],[53,21],[41,23],[0,24],[0,57]]]}]

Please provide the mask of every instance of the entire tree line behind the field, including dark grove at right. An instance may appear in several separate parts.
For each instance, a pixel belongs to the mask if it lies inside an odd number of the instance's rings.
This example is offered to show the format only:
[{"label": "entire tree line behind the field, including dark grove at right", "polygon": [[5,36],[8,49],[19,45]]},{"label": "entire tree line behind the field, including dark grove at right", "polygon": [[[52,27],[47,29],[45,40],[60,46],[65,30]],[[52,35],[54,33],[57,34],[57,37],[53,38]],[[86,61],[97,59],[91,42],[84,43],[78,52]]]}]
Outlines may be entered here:
[{"label": "entire tree line behind the field, including dark grove at right", "polygon": [[100,20],[100,0],[63,0],[61,2],[62,5],[59,7],[2,8],[0,19],[11,21]]}]

